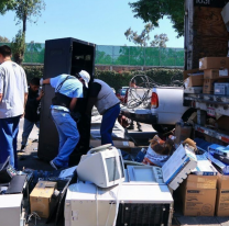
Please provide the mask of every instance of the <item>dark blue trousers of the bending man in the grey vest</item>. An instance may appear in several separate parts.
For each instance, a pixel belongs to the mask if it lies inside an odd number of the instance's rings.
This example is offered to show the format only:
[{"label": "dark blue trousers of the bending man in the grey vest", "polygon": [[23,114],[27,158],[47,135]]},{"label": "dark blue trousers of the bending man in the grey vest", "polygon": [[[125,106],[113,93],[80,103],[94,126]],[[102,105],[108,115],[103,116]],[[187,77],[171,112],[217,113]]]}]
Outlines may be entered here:
[{"label": "dark blue trousers of the bending man in the grey vest", "polygon": [[112,144],[112,129],[116,123],[117,117],[120,114],[120,105],[117,104],[105,112],[101,120],[100,135],[101,135],[101,145]]}]

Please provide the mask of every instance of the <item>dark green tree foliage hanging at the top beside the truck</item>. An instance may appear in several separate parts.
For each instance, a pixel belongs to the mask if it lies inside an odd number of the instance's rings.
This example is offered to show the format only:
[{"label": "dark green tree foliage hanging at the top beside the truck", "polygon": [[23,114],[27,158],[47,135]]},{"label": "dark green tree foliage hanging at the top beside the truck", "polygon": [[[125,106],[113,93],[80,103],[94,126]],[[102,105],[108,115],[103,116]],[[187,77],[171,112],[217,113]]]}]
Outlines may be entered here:
[{"label": "dark green tree foliage hanging at the top beside the truck", "polygon": [[145,23],[151,22],[159,26],[159,20],[167,16],[177,32],[184,35],[184,0],[139,0],[129,3],[135,18],[141,18]]}]

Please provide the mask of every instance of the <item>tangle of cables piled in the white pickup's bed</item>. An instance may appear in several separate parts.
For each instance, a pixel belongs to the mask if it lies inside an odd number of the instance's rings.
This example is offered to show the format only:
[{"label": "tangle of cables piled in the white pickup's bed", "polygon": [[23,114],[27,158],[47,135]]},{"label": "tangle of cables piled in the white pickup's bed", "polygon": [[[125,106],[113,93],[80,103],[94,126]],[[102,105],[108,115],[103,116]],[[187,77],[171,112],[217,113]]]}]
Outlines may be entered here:
[{"label": "tangle of cables piled in the white pickup's bed", "polygon": [[[175,75],[176,76],[176,75]],[[123,105],[128,109],[135,109],[141,105],[143,109],[150,109],[150,100],[151,100],[151,91],[153,87],[182,87],[183,81],[174,80],[173,76],[171,78],[171,84],[161,84],[155,82],[152,78],[144,76],[144,75],[138,75],[134,76],[130,82],[138,81],[137,88],[129,88],[127,90],[127,103]],[[138,88],[141,88],[138,89]]]}]

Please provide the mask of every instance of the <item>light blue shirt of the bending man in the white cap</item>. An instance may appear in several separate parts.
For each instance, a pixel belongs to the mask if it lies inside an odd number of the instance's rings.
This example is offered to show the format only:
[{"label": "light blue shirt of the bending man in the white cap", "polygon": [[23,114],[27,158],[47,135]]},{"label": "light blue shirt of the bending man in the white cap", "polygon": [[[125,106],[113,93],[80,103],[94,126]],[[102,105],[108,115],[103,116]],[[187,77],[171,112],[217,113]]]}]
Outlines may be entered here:
[{"label": "light blue shirt of the bending man in the white cap", "polygon": [[[69,75],[63,74],[55,78],[51,78],[50,82],[53,88],[55,88],[55,92],[58,88],[58,84],[66,79]],[[63,83],[62,88],[58,90],[59,93],[67,95],[68,98],[83,98],[83,83],[75,78],[74,76],[69,76],[69,78]],[[56,106],[51,105],[51,109],[58,109],[64,111],[69,111],[65,106]]]}]

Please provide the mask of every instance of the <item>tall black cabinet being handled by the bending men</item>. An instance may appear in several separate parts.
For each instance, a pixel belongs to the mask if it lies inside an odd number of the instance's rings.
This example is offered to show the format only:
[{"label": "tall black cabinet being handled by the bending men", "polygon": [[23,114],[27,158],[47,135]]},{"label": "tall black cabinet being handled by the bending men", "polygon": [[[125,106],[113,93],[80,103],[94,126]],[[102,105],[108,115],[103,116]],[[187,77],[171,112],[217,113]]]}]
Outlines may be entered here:
[{"label": "tall black cabinet being handled by the bending men", "polygon": [[[45,42],[44,79],[53,78],[62,74],[76,75],[80,70],[86,70],[94,80],[95,71],[95,48],[96,45],[72,37],[50,39]],[[90,88],[89,83],[89,88]],[[53,123],[50,106],[54,98],[55,90],[45,84],[44,98],[41,103],[41,125],[39,136],[37,156],[44,160],[52,160],[58,154],[58,133]],[[81,114],[77,124],[80,139],[70,157],[70,165],[79,161],[80,155],[89,149],[90,117],[85,114],[87,105],[88,90],[84,90],[84,98],[78,99],[76,110]]]}]

